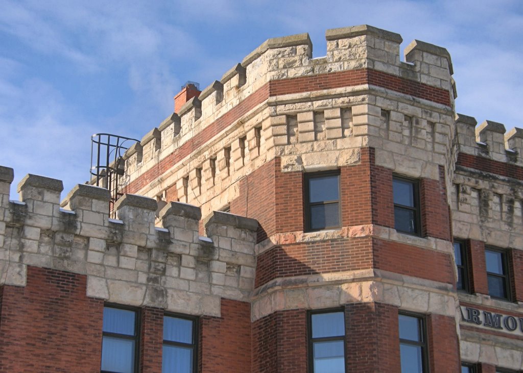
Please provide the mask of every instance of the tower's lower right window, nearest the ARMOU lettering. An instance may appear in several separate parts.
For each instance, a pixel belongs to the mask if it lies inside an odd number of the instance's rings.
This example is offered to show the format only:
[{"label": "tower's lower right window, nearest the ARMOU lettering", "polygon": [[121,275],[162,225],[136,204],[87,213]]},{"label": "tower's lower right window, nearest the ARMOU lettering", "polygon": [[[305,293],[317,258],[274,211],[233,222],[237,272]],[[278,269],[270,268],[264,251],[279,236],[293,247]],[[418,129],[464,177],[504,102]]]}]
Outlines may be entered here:
[{"label": "tower's lower right window, nearest the ARMOU lettering", "polygon": [[402,373],[426,373],[427,343],[425,319],[410,314],[399,315]]}]

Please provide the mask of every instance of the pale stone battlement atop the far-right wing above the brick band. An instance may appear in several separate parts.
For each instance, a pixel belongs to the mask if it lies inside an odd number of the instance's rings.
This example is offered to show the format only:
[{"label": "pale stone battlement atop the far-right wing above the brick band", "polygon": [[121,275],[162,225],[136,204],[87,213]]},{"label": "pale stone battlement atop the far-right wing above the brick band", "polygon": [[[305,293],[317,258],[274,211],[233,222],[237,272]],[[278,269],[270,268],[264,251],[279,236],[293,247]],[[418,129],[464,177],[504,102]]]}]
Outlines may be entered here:
[{"label": "pale stone battlement atop the far-right wing above the brick band", "polygon": [[472,116],[456,114],[456,144],[459,153],[523,165],[523,130],[517,127],[507,132],[502,123],[477,125]]}]

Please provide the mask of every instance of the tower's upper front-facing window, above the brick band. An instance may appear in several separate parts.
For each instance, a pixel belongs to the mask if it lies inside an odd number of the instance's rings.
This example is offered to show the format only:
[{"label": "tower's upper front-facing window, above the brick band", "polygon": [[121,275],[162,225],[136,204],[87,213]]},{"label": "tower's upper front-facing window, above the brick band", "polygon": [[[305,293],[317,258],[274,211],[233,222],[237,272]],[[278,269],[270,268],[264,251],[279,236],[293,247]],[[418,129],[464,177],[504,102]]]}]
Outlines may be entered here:
[{"label": "tower's upper front-facing window, above the brick band", "polygon": [[338,171],[305,174],[305,209],[307,230],[340,226]]}]

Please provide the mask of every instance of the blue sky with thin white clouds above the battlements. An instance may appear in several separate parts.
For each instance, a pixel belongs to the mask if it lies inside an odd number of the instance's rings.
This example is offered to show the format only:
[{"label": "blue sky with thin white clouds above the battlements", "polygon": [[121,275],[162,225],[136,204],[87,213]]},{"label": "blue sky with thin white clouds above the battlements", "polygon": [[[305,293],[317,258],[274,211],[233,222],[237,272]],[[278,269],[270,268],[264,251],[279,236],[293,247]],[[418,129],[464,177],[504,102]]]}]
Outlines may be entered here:
[{"label": "blue sky with thin white clouds above the battlements", "polygon": [[523,1],[0,0],[0,165],[89,178],[90,135],[142,138],[268,38],[369,24],[447,48],[457,111],[523,127]]}]

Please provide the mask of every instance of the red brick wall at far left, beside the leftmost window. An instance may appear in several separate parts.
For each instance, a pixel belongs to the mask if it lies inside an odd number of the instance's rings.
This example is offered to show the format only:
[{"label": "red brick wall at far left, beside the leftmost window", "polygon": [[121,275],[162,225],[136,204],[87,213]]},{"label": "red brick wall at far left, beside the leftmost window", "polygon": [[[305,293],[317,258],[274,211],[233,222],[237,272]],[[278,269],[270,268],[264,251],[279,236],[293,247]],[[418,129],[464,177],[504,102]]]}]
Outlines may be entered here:
[{"label": "red brick wall at far left, beside the leftmost window", "polygon": [[3,287],[0,371],[97,372],[104,302],[86,276],[27,267],[27,286]]}]

